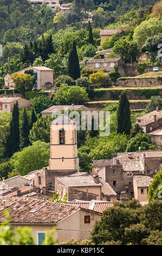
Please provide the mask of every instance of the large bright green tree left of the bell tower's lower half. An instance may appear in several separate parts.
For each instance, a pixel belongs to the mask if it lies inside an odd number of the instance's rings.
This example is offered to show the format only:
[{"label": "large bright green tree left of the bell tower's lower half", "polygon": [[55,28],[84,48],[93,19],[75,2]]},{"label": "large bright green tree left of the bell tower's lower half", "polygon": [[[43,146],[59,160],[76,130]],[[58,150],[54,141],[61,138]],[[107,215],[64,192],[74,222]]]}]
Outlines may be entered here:
[{"label": "large bright green tree left of the bell tower's lower half", "polygon": [[33,170],[48,166],[48,160],[49,143],[36,141],[11,157],[10,162],[14,165],[14,170],[8,176],[11,178],[15,173],[24,176]]}]

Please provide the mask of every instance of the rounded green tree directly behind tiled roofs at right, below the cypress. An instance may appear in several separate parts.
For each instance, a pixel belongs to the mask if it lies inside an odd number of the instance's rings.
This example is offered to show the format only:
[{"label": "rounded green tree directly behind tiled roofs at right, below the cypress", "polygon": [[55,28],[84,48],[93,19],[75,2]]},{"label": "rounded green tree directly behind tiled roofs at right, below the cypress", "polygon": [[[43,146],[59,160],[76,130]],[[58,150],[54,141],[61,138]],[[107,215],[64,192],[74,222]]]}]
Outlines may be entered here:
[{"label": "rounded green tree directly behind tiled roofs at right, below the cypress", "polygon": [[128,141],[126,151],[134,152],[142,150],[155,150],[155,144],[150,135],[139,132],[135,137]]}]

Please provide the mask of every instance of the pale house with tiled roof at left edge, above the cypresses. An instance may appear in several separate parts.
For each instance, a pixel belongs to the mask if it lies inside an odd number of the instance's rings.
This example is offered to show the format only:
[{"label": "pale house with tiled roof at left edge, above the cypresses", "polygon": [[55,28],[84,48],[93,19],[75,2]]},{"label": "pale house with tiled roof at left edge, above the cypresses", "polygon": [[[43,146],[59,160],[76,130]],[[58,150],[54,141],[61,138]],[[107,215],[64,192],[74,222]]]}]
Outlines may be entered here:
[{"label": "pale house with tiled roof at left edge, above the cypresses", "polygon": [[29,107],[31,105],[30,100],[25,100],[22,97],[0,97],[0,112],[11,112],[14,104],[18,102],[18,107]]}]

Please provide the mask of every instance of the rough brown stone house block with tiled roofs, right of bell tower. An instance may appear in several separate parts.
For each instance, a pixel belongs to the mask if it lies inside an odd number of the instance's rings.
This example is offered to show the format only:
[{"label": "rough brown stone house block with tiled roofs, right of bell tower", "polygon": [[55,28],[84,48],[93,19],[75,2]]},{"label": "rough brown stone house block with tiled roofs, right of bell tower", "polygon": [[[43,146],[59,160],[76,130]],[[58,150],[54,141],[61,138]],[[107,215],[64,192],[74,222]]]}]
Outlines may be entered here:
[{"label": "rough brown stone house block with tiled roofs, right of bell tower", "polygon": [[133,196],[133,176],[159,172],[162,168],[162,150],[116,153],[113,159],[95,160],[92,168],[116,193],[128,187]]}]

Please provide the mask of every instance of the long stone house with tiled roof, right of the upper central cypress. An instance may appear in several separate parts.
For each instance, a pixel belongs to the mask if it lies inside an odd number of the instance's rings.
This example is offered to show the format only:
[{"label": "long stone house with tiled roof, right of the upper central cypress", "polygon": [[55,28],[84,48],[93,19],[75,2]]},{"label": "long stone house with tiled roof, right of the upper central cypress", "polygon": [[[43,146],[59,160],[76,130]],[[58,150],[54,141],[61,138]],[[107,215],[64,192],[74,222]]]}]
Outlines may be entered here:
[{"label": "long stone house with tiled roof, right of the upper central cypress", "polygon": [[114,71],[115,66],[118,66],[118,73],[120,76],[123,76],[125,74],[123,69],[124,63],[125,62],[121,57],[112,59],[89,59],[87,68],[103,69],[106,72],[111,72]]}]

